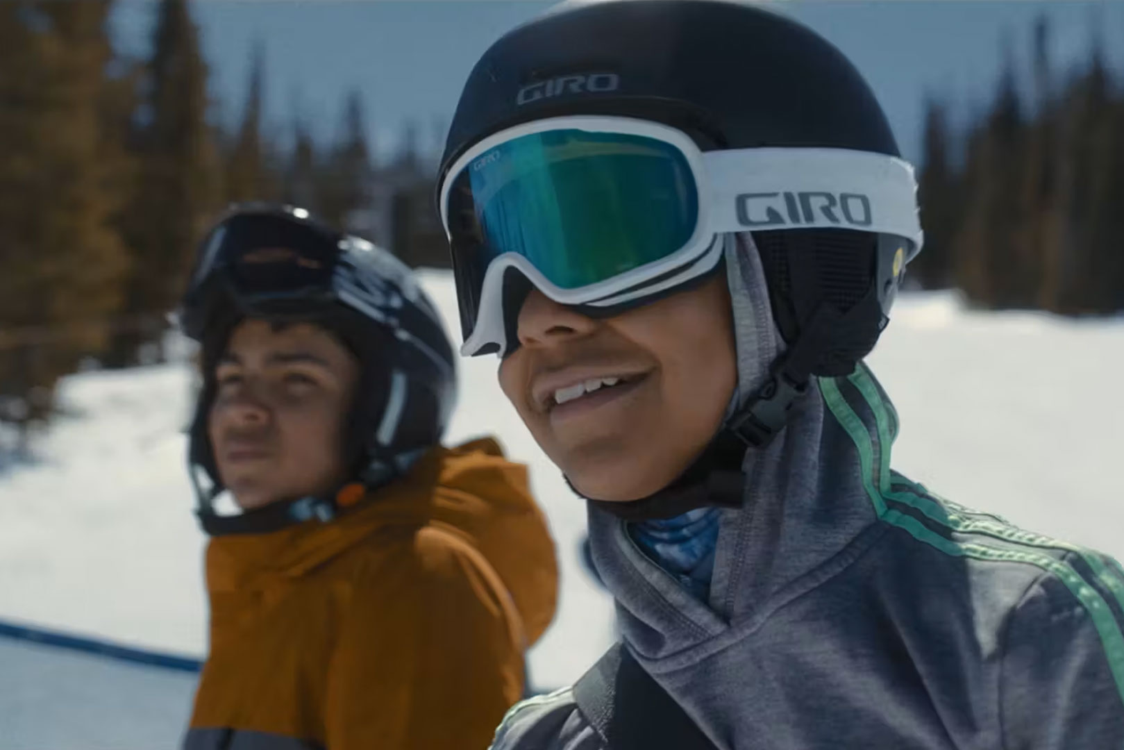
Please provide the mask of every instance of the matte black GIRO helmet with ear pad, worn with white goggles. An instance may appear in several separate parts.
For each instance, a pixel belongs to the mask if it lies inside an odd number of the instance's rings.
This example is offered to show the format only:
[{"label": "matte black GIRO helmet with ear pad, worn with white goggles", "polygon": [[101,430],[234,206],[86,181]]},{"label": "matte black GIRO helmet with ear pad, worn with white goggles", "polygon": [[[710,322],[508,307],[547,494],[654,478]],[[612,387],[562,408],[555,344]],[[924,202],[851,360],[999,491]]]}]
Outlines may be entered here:
[{"label": "matte black GIRO helmet with ear pad, worn with white goggles", "polygon": [[[653,120],[703,151],[824,147],[900,156],[854,65],[776,11],[726,0],[568,2],[509,31],[477,63],[450,127],[438,186],[489,135],[565,115]],[[921,246],[912,237],[832,228],[759,231],[753,238],[789,344],[773,379],[733,425],[761,445],[783,426],[810,376],[849,374],[873,349]]]}]

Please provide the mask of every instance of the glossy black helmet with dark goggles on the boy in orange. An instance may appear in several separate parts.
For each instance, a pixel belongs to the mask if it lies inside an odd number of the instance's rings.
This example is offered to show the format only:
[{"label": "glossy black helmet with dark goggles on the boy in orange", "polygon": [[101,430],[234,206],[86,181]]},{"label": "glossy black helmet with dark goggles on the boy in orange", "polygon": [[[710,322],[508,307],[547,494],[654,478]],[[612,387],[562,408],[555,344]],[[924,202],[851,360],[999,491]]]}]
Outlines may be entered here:
[{"label": "glossy black helmet with dark goggles on the boy in orange", "polygon": [[[207,432],[215,367],[247,317],[315,323],[360,363],[344,435],[347,482],[375,487],[441,441],[456,399],[452,344],[436,306],[413,272],[386,250],[342,234],[290,206],[234,207],[200,245],[179,311],[201,344],[202,388],[190,430],[189,469],[201,524],[212,535],[259,533],[337,510],[325,497],[218,515],[224,487]],[[210,487],[203,488],[199,473]]]}]

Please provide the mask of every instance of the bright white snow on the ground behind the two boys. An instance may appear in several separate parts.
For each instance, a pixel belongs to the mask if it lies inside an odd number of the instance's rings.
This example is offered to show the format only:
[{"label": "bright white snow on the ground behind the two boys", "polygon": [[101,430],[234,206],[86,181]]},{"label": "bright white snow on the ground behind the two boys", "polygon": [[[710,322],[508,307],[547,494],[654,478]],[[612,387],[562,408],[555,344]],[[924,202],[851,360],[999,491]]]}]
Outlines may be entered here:
[{"label": "bright white snow on the ground behind the two boys", "polygon": [[[423,282],[448,331],[460,331],[451,277],[426,271]],[[961,504],[1124,557],[1124,503],[1113,470],[1124,448],[1124,388],[1116,382],[1124,319],[979,313],[951,293],[906,295],[870,362],[901,416],[897,469]],[[613,608],[580,561],[583,504],[504,398],[496,369],[490,356],[461,360],[448,441],[493,433],[510,457],[531,466],[562,575],[559,614],[531,653],[535,686],[552,688],[608,648]],[[0,455],[0,618],[203,654],[205,537],[190,513],[184,470],[192,388],[185,362],[73,376],[61,389],[67,415],[36,442],[35,462],[6,463]],[[10,706],[18,711],[42,689],[29,675],[62,672],[43,647],[0,645],[4,724]],[[87,668],[92,675],[96,666],[67,667],[74,675]],[[97,668],[115,690],[136,689],[154,702],[163,696],[161,711],[147,713],[170,722],[163,737],[175,743],[190,676],[157,688],[124,676],[145,668],[121,667],[119,678],[109,666]],[[82,683],[63,681],[74,680]],[[49,738],[43,747],[66,747]]]}]

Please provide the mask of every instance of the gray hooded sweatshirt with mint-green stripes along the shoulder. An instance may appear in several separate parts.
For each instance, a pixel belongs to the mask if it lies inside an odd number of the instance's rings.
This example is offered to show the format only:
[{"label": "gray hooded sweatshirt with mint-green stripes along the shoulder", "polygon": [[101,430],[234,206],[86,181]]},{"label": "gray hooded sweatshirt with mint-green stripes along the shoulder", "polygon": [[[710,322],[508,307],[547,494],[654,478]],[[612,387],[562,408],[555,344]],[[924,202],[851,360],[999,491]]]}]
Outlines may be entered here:
[{"label": "gray hooded sweatshirt with mint-green stripes along the shoulder", "polygon": [[[727,242],[738,394],[780,351],[749,235]],[[724,750],[1120,750],[1124,568],[890,470],[870,371],[821,379],[743,463],[709,602],[590,508],[593,560],[640,665]],[[569,688],[493,750],[598,750]]]}]

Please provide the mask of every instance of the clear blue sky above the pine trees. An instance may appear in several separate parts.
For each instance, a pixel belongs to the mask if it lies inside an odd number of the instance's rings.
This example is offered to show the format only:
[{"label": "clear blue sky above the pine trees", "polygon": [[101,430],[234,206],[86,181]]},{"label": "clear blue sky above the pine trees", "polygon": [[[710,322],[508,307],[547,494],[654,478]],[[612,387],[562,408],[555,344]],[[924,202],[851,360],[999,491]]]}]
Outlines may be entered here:
[{"label": "clear blue sky above the pine trees", "polygon": [[[255,42],[265,47],[266,106],[284,136],[300,111],[321,136],[336,128],[343,97],[364,97],[375,147],[386,152],[413,119],[436,143],[469,70],[504,31],[553,2],[532,0],[197,0],[211,65],[216,117],[237,118]],[[786,12],[846,53],[887,110],[907,159],[921,147],[926,90],[949,97],[962,117],[986,101],[1008,33],[1025,60],[1034,17],[1053,22],[1055,66],[1085,57],[1094,22],[1117,70],[1124,69],[1124,3],[1072,1],[788,0]],[[153,0],[119,0],[121,48],[149,45]]]}]

